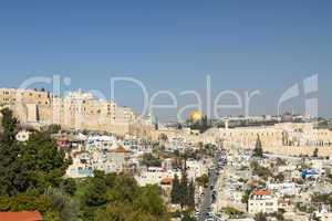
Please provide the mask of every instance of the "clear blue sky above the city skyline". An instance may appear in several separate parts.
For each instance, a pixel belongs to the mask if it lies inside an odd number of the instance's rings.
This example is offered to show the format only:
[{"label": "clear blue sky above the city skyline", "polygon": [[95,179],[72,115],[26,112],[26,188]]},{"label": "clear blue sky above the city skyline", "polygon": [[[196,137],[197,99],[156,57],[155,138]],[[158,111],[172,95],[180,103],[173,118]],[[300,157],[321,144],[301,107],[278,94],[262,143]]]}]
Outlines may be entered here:
[{"label": "clear blue sky above the city skyline", "polygon": [[[209,74],[212,96],[259,90],[251,114],[276,114],[284,90],[318,73],[320,115],[332,116],[331,11],[329,0],[1,1],[0,86],[59,74],[66,90],[108,96],[111,77],[132,76],[184,105],[181,91],[206,96]],[[116,102],[139,110],[139,88],[117,87]]]}]

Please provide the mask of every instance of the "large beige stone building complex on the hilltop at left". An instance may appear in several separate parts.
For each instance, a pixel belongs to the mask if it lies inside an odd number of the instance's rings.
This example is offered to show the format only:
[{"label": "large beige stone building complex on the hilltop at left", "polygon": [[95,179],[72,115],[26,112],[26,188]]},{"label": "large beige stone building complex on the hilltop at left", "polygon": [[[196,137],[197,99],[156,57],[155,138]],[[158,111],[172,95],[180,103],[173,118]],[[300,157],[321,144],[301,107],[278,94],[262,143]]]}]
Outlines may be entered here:
[{"label": "large beige stone building complex on the hilltop at left", "polygon": [[58,97],[45,91],[0,88],[0,105],[11,108],[21,124],[56,124],[68,129],[126,134],[135,113],[81,91]]}]

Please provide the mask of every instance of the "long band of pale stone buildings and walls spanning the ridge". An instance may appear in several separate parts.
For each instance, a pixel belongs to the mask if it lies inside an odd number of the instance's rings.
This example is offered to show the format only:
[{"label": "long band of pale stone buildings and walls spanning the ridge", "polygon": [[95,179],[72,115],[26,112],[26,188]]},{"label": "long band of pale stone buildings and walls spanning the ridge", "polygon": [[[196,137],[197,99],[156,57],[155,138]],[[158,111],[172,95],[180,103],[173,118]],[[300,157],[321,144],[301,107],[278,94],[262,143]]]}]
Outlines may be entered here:
[{"label": "long band of pale stone buildings and walls spanning the ridge", "polygon": [[34,127],[56,124],[64,129],[108,131],[121,136],[131,134],[152,140],[158,140],[163,135],[168,138],[169,148],[186,143],[189,146],[215,144],[246,149],[253,148],[259,137],[264,151],[269,152],[311,156],[318,148],[319,156],[332,154],[332,130],[315,128],[314,123],[278,122],[276,118],[269,126],[229,128],[226,120],[225,127],[212,127],[203,134],[189,128],[159,126],[156,129],[153,116],[138,118],[128,107],[96,99],[81,91],[58,97],[45,91],[0,88],[0,105],[13,109],[22,124]]}]

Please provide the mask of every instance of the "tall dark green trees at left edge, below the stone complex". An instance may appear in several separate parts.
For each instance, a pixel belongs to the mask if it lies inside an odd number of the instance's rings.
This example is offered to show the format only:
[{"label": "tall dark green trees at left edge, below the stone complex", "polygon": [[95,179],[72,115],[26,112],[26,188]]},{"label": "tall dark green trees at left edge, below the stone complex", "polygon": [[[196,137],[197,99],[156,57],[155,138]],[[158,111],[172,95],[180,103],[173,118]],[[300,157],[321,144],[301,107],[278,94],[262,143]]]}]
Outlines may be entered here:
[{"label": "tall dark green trees at left edge, below the stone complex", "polygon": [[18,122],[9,109],[2,109],[3,133],[0,137],[0,194],[43,192],[59,187],[70,160],[59,151],[50,134],[34,131],[27,143],[15,140]]}]

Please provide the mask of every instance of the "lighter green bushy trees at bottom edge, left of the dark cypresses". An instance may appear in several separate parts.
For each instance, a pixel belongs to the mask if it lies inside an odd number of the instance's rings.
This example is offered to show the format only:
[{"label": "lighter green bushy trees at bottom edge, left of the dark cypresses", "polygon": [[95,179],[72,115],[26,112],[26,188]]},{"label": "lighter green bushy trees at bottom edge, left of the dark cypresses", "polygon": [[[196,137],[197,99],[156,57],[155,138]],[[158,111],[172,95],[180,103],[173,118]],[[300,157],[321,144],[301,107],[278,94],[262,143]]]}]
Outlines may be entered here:
[{"label": "lighter green bushy trees at bottom edge, left of the dark cypresses", "polygon": [[[82,202],[87,220],[168,220],[157,186],[138,187],[135,179],[95,171],[89,178]],[[102,192],[104,194],[102,194]]]}]

